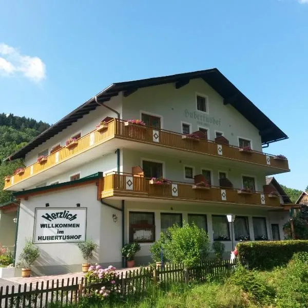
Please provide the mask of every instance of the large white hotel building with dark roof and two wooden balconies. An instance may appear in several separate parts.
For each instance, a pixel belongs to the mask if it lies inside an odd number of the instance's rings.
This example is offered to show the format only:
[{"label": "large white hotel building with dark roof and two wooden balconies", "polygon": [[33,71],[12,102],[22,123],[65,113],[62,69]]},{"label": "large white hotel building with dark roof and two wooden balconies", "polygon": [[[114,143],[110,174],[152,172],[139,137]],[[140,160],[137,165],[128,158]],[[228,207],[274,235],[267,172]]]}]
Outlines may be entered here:
[{"label": "large white hotel building with dark roof and two wooden balconies", "polygon": [[[77,242],[87,238],[98,244],[93,262],[121,267],[122,245],[136,240],[136,262],[147,264],[151,243],[182,221],[226,252],[243,237],[283,239],[288,213],[266,176],[290,169],[262,146],[286,138],[217,69],[111,84],[8,158],[26,166],[4,188],[20,202],[16,259],[30,238],[35,273],[80,271]],[[161,176],[170,183],[151,184]]]}]

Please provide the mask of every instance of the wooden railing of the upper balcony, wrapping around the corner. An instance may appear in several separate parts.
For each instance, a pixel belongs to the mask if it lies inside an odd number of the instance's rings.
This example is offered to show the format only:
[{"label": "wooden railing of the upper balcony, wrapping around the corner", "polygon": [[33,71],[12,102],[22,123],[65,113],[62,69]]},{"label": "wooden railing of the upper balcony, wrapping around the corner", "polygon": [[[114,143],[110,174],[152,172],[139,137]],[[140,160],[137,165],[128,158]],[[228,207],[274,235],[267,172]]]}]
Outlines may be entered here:
[{"label": "wooden railing of the upper balcony, wrapping around the corner", "polygon": [[265,167],[277,168],[277,170],[280,171],[289,171],[287,160],[279,160],[272,155],[258,151],[241,152],[240,148],[236,146],[219,144],[203,139],[183,139],[183,136],[183,134],[159,128],[141,127],[131,124],[125,125],[125,121],[113,119],[107,124],[104,130],[93,130],[78,139],[78,144],[74,147],[63,147],[54,151],[47,156],[47,161],[43,163],[34,163],[26,167],[23,173],[14,174],[6,178],[4,189],[40,174],[42,171],[114,138],[194,152],[209,155],[211,157],[252,163]]}]

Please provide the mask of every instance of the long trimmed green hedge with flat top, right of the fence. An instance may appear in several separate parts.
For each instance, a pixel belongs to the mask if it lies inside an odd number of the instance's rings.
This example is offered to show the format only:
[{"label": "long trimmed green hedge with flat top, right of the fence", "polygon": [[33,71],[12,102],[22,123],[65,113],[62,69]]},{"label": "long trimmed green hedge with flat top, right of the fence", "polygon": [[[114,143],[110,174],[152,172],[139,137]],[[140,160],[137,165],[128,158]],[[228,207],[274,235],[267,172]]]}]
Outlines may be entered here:
[{"label": "long trimmed green hedge with flat top, right of the fence", "polygon": [[288,263],[294,253],[308,252],[308,240],[240,242],[237,249],[249,268],[271,269]]}]

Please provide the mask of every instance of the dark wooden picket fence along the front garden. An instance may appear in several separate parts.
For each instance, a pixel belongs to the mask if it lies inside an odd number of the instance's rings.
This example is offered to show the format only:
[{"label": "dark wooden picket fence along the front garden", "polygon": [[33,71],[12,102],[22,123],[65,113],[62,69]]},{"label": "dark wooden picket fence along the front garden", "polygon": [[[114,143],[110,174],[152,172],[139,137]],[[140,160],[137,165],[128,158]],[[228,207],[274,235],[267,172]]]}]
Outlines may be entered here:
[{"label": "dark wooden picket fence along the front garden", "polygon": [[123,296],[142,296],[152,283],[205,281],[207,277],[225,276],[230,273],[229,261],[206,262],[190,269],[183,264],[166,264],[140,268],[121,273],[113,277],[114,283],[95,281],[87,278],[42,281],[24,285],[0,287],[0,308],[42,308],[49,303],[58,302],[61,306],[78,302],[81,296],[93,293],[106,286],[108,290],[121,293]]}]

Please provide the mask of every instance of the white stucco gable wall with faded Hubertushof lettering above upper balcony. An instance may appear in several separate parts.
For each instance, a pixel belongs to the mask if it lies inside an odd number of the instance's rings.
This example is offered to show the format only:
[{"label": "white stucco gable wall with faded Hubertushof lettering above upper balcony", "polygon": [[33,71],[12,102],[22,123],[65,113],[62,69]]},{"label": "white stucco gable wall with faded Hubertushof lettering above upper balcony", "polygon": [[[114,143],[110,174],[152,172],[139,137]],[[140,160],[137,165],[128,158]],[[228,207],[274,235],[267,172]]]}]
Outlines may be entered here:
[{"label": "white stucco gable wall with faded Hubertushof lettering above upper balcony", "polygon": [[[196,92],[207,95],[208,114],[197,111]],[[141,111],[160,116],[162,128],[166,130],[182,132],[183,121],[192,125],[192,131],[198,130],[198,126],[208,128],[210,140],[215,139],[218,130],[230,144],[238,146],[238,137],[242,137],[252,140],[254,150],[262,151],[258,129],[233,106],[224,105],[223,98],[202,79],[190,80],[180,89],[174,83],[140,88],[123,98],[123,119],[140,119]],[[200,118],[203,114],[209,118],[208,123]],[[218,122],[213,124],[213,118]]]}]

